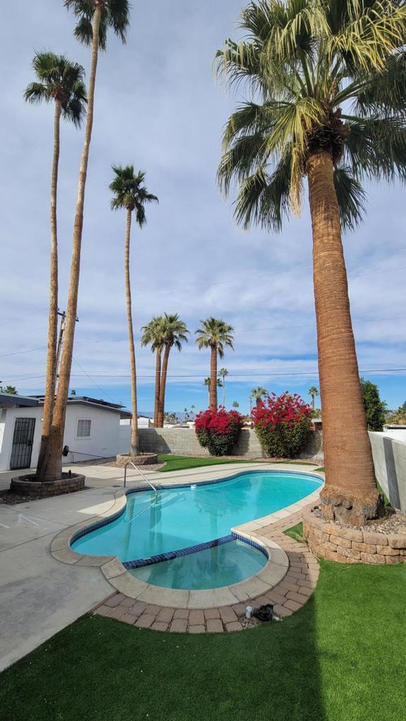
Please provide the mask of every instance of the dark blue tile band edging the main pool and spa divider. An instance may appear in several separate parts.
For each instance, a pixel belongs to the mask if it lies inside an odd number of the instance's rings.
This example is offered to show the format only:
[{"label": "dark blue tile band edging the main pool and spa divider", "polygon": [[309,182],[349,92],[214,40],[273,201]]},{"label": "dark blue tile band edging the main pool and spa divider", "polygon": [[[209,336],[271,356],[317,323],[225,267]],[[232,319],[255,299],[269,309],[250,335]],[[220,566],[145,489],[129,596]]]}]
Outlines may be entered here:
[{"label": "dark blue tile band edging the main pool and spa divider", "polygon": [[[231,480],[234,480],[235,478],[239,478],[240,476],[244,476],[247,474],[252,475],[252,474],[259,474],[259,473],[262,473],[262,474],[266,473],[269,475],[278,474],[278,475],[288,475],[288,476],[291,476],[291,475],[306,476],[306,477],[309,477],[309,478],[319,481],[320,485],[322,485],[322,481],[323,481],[322,477],[317,476],[314,473],[309,473],[309,472],[286,471],[286,470],[279,471],[278,469],[271,469],[271,470],[253,469],[252,471],[241,471],[241,472],[235,473],[231,476],[226,476],[225,478],[217,478],[217,479],[208,480],[208,481],[193,481],[193,482],[189,482],[189,483],[176,483],[176,484],[156,484],[156,489],[160,491],[160,490],[171,490],[173,488],[191,488],[192,486],[210,486],[215,483],[224,483],[226,481],[231,481]],[[133,493],[143,493],[143,492],[151,493],[151,488],[149,486],[130,488],[128,491],[125,492],[125,496],[128,497],[128,496],[132,495]],[[74,534],[71,537],[71,540],[69,543],[70,547],[72,547],[72,544],[74,544],[75,541],[82,538],[83,536],[87,536],[87,534],[90,534],[93,531],[97,531],[98,528],[102,528],[103,526],[108,526],[109,523],[116,521],[118,518],[120,518],[120,516],[123,515],[123,513],[125,513],[125,508],[126,508],[126,505],[123,508],[120,508],[120,510],[118,510],[117,513],[113,513],[112,516],[108,516],[108,518],[103,518],[102,521],[97,521],[97,523],[92,523],[90,526],[87,526],[87,528],[81,528],[80,531],[76,531],[76,534]],[[283,510],[283,509],[280,509],[280,510]],[[247,523],[249,523],[249,521],[247,521]],[[180,556],[180,555],[187,555],[190,553],[195,553],[197,551],[203,550],[204,548],[211,548],[213,546],[217,546],[217,545],[219,545],[219,541],[221,541],[222,543],[227,543],[234,537],[237,538],[239,541],[244,541],[244,543],[247,543],[249,545],[257,547],[260,551],[264,552],[264,549],[262,548],[262,546],[260,546],[259,544],[255,544],[255,541],[251,541],[250,539],[247,539],[244,536],[239,536],[238,534],[234,534],[234,532],[232,532],[232,534],[230,536],[223,536],[223,539],[215,539],[214,541],[207,541],[205,544],[198,544],[198,546],[190,546],[187,549],[180,549],[179,551],[172,551],[167,554],[160,554],[159,556],[151,556],[149,559],[148,558],[147,559],[138,559],[142,563],[140,563],[139,565],[136,565],[136,566],[133,565],[133,566],[131,566],[131,568],[137,568],[137,567],[140,567],[141,565],[142,566],[151,565],[152,563],[160,563],[162,561],[176,558],[177,556]],[[226,540],[224,540],[224,539],[226,539]],[[177,555],[174,556],[173,554],[177,554]],[[266,554],[266,552],[265,552],[265,554]],[[158,560],[153,560],[153,559],[158,559]],[[136,560],[136,561],[121,561],[121,563],[123,564],[123,566],[125,566],[126,563],[138,564],[138,560]]]}]

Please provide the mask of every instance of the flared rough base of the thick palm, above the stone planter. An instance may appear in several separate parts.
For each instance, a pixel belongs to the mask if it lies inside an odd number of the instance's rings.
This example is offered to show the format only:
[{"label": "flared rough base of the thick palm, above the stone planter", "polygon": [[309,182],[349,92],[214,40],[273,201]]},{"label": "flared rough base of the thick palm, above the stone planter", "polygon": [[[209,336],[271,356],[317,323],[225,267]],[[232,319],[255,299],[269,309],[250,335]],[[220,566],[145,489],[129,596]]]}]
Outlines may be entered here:
[{"label": "flared rough base of the thick palm, above the stone planter", "polygon": [[320,491],[320,510],[325,521],[348,526],[365,526],[368,521],[384,516],[384,497],[377,489],[346,490],[325,486]]}]

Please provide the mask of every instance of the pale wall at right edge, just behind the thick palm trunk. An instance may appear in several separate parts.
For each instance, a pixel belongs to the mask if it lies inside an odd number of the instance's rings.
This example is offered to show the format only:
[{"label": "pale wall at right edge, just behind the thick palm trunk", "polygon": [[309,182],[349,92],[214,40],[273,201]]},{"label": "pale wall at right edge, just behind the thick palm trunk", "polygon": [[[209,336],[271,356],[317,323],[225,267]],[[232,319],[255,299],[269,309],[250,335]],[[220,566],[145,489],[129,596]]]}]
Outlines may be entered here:
[{"label": "pale wall at right edge, just behind the thick palm trunk", "polygon": [[369,433],[376,479],[394,508],[406,511],[406,443],[387,433]]}]

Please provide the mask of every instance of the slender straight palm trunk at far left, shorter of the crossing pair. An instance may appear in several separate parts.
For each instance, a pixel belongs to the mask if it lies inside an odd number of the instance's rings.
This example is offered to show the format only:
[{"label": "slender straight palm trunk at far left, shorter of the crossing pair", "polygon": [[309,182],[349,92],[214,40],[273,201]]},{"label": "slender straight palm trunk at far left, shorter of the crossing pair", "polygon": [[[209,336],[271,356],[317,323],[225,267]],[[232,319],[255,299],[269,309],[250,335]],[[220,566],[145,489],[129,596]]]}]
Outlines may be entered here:
[{"label": "slender straight palm trunk at far left, shorter of the crossing pair", "polygon": [[48,311],[47,366],[45,379],[45,399],[43,408],[43,426],[41,430],[40,452],[37,461],[37,476],[43,476],[43,464],[48,452],[50,427],[52,425],[55,404],[56,384],[56,338],[58,335],[58,229],[56,220],[56,199],[58,193],[58,167],[61,127],[61,100],[55,101],[53,120],[53,161],[50,181],[50,288]]}]

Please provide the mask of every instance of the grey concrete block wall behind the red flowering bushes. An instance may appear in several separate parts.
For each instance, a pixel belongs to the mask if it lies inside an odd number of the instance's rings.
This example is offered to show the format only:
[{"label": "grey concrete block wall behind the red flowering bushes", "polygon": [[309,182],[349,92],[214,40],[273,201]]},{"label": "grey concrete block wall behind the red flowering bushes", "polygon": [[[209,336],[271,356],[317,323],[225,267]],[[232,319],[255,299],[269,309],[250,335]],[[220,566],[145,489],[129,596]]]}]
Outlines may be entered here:
[{"label": "grey concrete block wall behind the red flowering bushes", "polygon": [[[138,434],[140,448],[144,452],[172,453],[185,456],[190,454],[198,456],[210,455],[206,448],[200,446],[194,428],[140,428]],[[312,433],[301,457],[319,457],[321,453],[321,437],[322,434],[319,431]],[[234,446],[231,455],[245,456],[247,459],[262,457],[262,448],[255,430],[250,428],[242,429],[239,434],[239,441]]]}]

